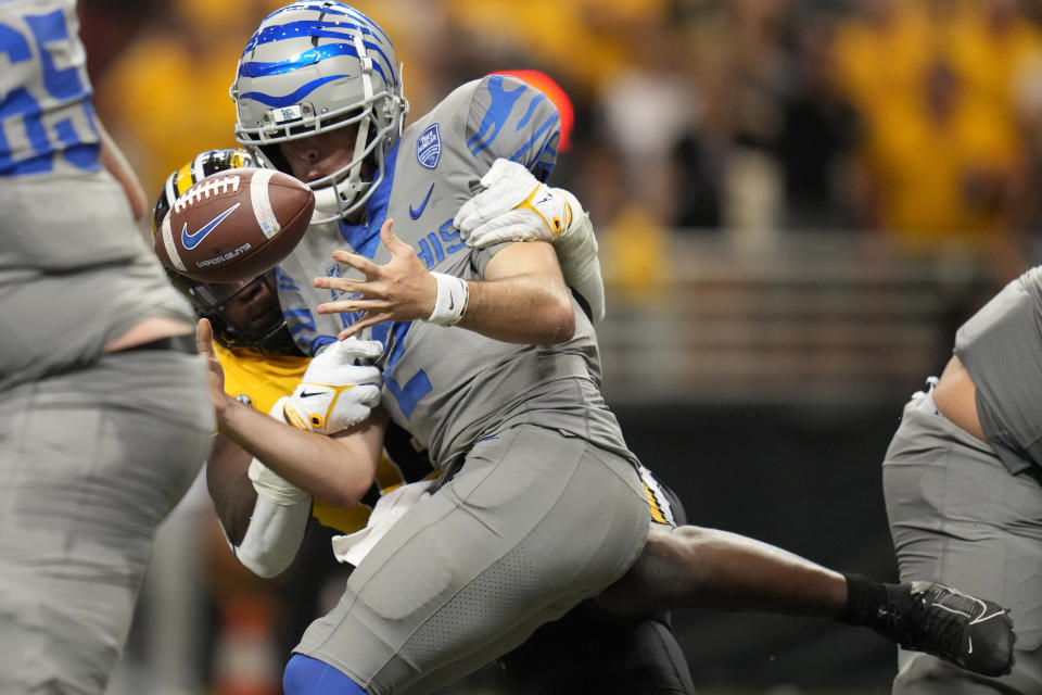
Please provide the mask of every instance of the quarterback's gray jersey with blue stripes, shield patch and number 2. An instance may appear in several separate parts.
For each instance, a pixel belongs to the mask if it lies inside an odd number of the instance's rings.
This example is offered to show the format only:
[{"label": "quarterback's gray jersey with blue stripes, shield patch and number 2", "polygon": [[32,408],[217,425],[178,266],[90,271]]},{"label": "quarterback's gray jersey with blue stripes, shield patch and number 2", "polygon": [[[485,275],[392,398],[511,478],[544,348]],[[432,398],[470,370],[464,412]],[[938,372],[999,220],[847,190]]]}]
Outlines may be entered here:
[{"label": "quarterback's gray jersey with blue stripes, shield patch and number 2", "polygon": [[[558,137],[552,103],[501,75],[463,85],[412,123],[387,155],[385,179],[367,203],[367,223],[314,226],[280,266],[279,298],[300,345],[317,353],[358,318],[317,314],[317,304],[335,298],[310,280],[356,275],[332,260],[334,249],[386,263],[380,227],[387,217],[429,270],[481,279],[498,248],[467,247],[453,226],[456,212],[497,157],[520,162],[545,179],[556,162]],[[420,320],[373,327],[363,337],[384,344],[379,361],[383,406],[429,447],[435,466],[521,422],[562,430],[632,457],[600,395],[593,327],[574,307],[575,336],[557,345],[506,343]]]}]

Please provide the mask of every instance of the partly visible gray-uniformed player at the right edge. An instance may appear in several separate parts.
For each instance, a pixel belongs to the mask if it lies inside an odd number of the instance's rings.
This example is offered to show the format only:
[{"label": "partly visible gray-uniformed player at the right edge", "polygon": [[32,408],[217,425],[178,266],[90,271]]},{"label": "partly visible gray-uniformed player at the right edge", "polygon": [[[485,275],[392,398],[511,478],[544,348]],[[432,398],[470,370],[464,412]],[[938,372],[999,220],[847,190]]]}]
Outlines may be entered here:
[{"label": "partly visible gray-uniformed player at the right edge", "polygon": [[937,579],[1013,612],[1013,673],[988,678],[902,652],[894,693],[1042,693],[1042,267],[955,337],[904,408],[882,465],[901,579]]}]

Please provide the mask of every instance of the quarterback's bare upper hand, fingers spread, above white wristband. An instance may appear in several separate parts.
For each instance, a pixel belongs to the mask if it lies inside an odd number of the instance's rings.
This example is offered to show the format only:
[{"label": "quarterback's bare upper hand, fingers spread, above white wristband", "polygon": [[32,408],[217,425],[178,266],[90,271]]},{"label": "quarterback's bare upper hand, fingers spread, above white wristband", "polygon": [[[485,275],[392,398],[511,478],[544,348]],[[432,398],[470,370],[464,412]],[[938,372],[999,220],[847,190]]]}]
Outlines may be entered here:
[{"label": "quarterback's bare upper hand, fingers spread, above white wristband", "polygon": [[361,318],[340,332],[341,340],[383,321],[427,318],[434,308],[437,282],[423,267],[412,247],[394,236],[393,224],[387,219],[380,228],[380,241],[391,252],[391,260],[384,265],[356,253],[333,252],[334,260],[361,273],[365,280],[321,277],[313,281],[315,287],[351,295],[319,304],[319,314],[365,312]]}]

